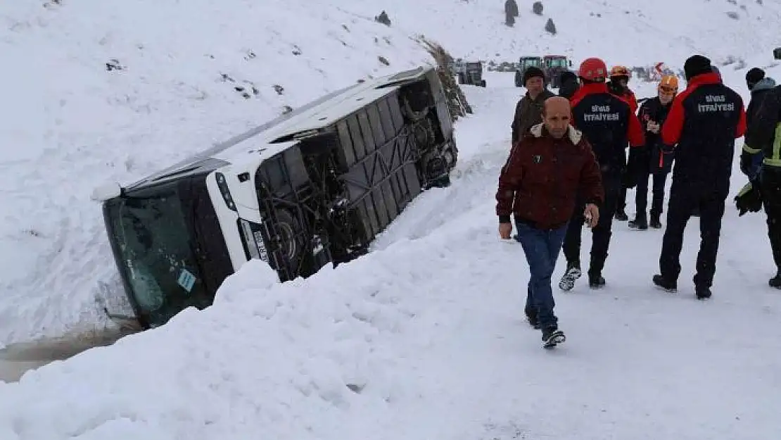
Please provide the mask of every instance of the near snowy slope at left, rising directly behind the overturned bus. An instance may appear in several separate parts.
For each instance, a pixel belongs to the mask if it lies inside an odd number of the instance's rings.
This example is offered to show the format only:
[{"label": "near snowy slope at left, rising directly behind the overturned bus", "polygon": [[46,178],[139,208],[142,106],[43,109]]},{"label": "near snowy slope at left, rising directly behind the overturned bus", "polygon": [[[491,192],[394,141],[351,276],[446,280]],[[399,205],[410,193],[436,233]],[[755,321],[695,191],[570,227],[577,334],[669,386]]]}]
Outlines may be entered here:
[{"label": "near snowy slope at left, rising directly behind the overturned bus", "polygon": [[116,272],[96,185],[430,61],[407,34],[302,0],[4,2],[0,19],[0,346],[95,321]]}]

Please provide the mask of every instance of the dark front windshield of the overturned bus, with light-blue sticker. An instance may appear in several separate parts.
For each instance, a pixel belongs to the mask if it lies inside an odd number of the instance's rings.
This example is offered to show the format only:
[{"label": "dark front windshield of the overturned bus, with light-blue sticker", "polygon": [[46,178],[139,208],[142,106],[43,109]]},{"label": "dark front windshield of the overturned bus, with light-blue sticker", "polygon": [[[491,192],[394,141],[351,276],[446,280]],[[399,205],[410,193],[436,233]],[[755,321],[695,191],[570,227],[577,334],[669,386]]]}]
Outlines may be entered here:
[{"label": "dark front windshield of the overturned bus, with light-blue sticker", "polygon": [[204,294],[191,221],[176,184],[106,202],[105,216],[119,272],[144,320],[165,323]]}]

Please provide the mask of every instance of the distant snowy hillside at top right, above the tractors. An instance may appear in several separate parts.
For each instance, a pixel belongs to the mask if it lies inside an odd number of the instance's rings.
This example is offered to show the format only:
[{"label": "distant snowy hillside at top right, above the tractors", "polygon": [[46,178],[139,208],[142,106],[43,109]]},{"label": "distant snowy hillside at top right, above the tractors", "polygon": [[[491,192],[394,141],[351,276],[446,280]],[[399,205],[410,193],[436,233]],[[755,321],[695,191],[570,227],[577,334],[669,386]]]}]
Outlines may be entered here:
[{"label": "distant snowy hillside at top right, above the tractors", "polygon": [[[695,52],[721,61],[779,44],[779,0],[543,0],[542,16],[532,13],[534,0],[516,2],[514,27],[505,26],[504,0],[364,0],[351,8],[373,15],[385,9],[394,27],[440,40],[454,56],[497,61],[561,53],[681,66]],[[555,36],[544,30],[549,18]]]}]

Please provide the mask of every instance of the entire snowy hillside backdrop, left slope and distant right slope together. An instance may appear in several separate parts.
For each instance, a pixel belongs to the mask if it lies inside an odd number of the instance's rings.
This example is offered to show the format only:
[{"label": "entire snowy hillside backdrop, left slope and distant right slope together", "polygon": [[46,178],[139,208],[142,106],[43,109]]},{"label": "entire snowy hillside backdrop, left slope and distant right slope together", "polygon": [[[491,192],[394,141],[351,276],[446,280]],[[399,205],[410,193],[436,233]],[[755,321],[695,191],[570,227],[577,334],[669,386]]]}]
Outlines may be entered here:
[{"label": "entire snowy hillside backdrop, left slope and distant right slope together", "polygon": [[[411,35],[481,59],[679,66],[695,48],[769,52],[776,27],[764,23],[781,21],[777,0],[544,3],[540,17],[519,2],[512,29],[497,0],[3,3],[0,48],[18,61],[0,73],[0,347],[102,325],[95,295],[116,269],[89,200],[96,185],[130,183],[285,106],[427,62]],[[383,8],[391,27],[372,20]],[[542,30],[548,17],[555,37]]]}]

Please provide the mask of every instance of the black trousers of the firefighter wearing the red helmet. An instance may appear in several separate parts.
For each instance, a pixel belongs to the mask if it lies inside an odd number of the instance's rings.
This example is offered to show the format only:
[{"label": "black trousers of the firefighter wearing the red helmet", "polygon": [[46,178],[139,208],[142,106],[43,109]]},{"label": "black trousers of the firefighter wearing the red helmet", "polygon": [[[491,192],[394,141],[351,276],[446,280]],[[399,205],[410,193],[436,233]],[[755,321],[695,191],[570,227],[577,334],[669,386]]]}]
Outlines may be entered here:
[{"label": "black trousers of the firefighter wearing the red helmet", "polygon": [[[610,247],[610,237],[612,235],[613,216],[621,195],[621,176],[602,174],[602,185],[604,187],[604,203],[599,209],[599,222],[591,230],[591,262],[589,273],[599,275],[604,269],[604,261],[608,259],[608,248]],[[576,203],[575,212],[567,225],[567,233],[564,237],[562,250],[568,264],[576,264],[580,267],[580,243],[583,224],[586,219],[583,218],[583,209],[585,203],[581,200]]]}]

